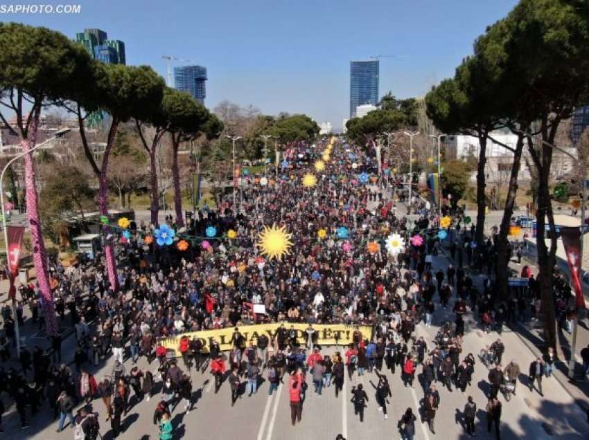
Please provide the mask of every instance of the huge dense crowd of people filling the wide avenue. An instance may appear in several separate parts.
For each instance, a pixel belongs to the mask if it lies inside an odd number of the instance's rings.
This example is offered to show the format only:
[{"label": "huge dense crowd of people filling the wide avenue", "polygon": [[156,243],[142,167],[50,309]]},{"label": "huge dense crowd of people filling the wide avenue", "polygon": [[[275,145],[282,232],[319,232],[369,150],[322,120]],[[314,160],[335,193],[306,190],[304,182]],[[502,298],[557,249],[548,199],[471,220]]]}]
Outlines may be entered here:
[{"label": "huge dense crowd of people filling the wide avenue", "polygon": [[[177,231],[191,241],[188,250],[148,243],[144,237],[152,235],[156,226],[132,222],[131,238],[117,245],[118,288],[109,284],[100,259],[81,262],[77,268],[54,264],[55,309],[60,320],[69,320],[74,327],[76,351],[73,365],[62,363],[62,340],[53,336],[50,349],[34,347],[32,353],[21,349],[20,368],[0,367],[0,392],[15,402],[22,428],[28,427],[46,401],[58,419],[58,431],[69,422],[81,432],[81,439],[95,440],[104,420],[117,437],[126,428],[123,422],[129,410],[143,399],[156,397],[153,421],[160,439],[171,439],[171,416],[177,405],[186,413],[193,407],[191,371],[196,369],[211,372],[216,392],[227,383],[231,405],[245,394],[258,392],[262,376],[267,378],[268,394],[284,384],[292,425],[301,421],[307,383],[318,395],[333,386],[339,396],[346,376],[369,374],[376,405],[387,419],[392,396],[389,381],[398,374],[405,387],[414,387],[417,376],[423,388],[421,414],[407,408],[398,429],[403,439],[413,439],[419,417],[435,433],[441,403],[437,387],[474,392],[469,387],[479,359],[462,350],[466,315],[480,320],[486,331],[499,333],[505,322],[522,320],[529,311],[536,316],[540,305],[534,279],[529,276],[528,291],[514,294],[508,302],[495,297],[491,277],[482,288],[475,286],[464,264],[491,274],[495,245],[490,238],[485,246],[474,248],[470,245],[473,229],[464,225],[451,232],[450,253],[456,266],[436,270],[432,255],[440,246],[439,219],[425,210],[425,203],[414,207],[422,215],[412,224],[396,213],[397,199],[391,194],[398,191],[403,196],[403,189],[390,167],[377,181],[362,183],[358,176],[376,169],[373,159],[351,145],[338,144],[326,171],[317,173],[317,184],[301,185],[301,176],[321,158],[319,147],[292,147],[278,176],[267,185],[261,185],[259,176],[248,178],[238,190],[237,206],[232,194],[227,194],[219,196],[215,208],[199,210],[185,230]],[[294,242],[280,262],[262,258],[255,246],[258,232],[273,223],[286,226]],[[216,237],[206,238],[206,228],[211,226]],[[346,237],[338,237],[341,228]],[[236,232],[236,238],[227,238],[229,230]],[[319,230],[326,230],[326,237],[318,238]],[[383,245],[374,252],[367,250],[369,242],[382,243],[392,232],[406,239],[399,253],[389,255]],[[419,246],[410,241],[416,234],[423,237]],[[204,239],[208,248],[202,247]],[[561,286],[563,298],[565,286]],[[21,286],[20,296],[17,320],[24,324],[26,314],[31,325],[42,331],[44,307],[37,288]],[[567,310],[563,303],[561,312]],[[265,313],[253,313],[253,304],[263,304]],[[416,326],[423,322],[430,327],[437,308],[451,310],[455,319],[437,322],[440,329],[434,340],[417,337]],[[10,309],[3,309],[2,315],[4,363],[14,354],[15,323]],[[286,323],[274,340],[263,336],[247,342],[240,333],[240,326],[267,322]],[[290,330],[289,323],[295,322],[308,324],[305,340]],[[372,335],[364,338],[357,329],[351,344],[328,352],[317,345],[313,324],[329,323],[370,326]],[[181,357],[172,358],[159,345],[168,336],[222,328],[234,328],[231,351],[221,351],[214,340],[203,344],[199,338],[182,338],[177,347]],[[491,367],[486,413],[488,428],[494,427],[497,438],[502,412],[499,392],[506,384],[517,383],[520,372],[515,360],[503,363],[503,352],[498,339],[479,354]],[[111,374],[97,381],[91,371],[103,367],[111,356]],[[555,360],[548,351],[529,366],[530,388],[535,383],[542,394],[542,377],[554,371]],[[148,367],[141,369],[140,364]],[[589,360],[587,365],[589,369]],[[369,394],[362,384],[352,389],[351,403],[360,422]],[[96,398],[103,401],[102,419],[96,412]],[[91,408],[90,403],[94,403]],[[74,414],[78,404],[81,410]],[[468,434],[475,434],[476,412],[473,397],[467,396],[463,414]]]}]

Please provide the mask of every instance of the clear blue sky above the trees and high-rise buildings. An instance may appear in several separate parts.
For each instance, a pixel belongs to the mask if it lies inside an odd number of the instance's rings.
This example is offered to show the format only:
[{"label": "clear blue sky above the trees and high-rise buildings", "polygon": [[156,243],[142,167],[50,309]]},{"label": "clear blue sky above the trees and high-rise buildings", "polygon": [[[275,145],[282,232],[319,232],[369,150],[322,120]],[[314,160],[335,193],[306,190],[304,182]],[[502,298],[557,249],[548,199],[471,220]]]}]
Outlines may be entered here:
[{"label": "clear blue sky above the trees and high-rise buildings", "polygon": [[[264,113],[307,113],[341,127],[349,62],[380,60],[380,95],[422,96],[469,55],[486,26],[516,0],[61,0],[79,15],[2,15],[75,37],[105,30],[125,42],[127,64],[165,77],[161,55],[208,68],[207,107],[224,99]],[[27,3],[15,1],[15,3]],[[8,2],[7,2],[8,4]]]}]

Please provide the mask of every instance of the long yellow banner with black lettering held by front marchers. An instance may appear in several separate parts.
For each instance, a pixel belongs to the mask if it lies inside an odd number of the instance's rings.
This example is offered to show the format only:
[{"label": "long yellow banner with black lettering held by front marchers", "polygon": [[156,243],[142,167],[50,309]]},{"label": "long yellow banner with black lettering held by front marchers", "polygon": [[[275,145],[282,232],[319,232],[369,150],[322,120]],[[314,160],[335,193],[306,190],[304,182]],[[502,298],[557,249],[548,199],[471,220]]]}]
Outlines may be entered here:
[{"label": "long yellow banner with black lettering held by front marchers", "polygon": [[[278,328],[281,326],[279,323],[274,324],[256,324],[256,325],[242,325],[238,327],[239,332],[245,338],[246,345],[249,342],[254,342],[254,346],[258,342],[258,336],[262,333],[268,337],[270,341],[268,345],[274,345],[276,339],[276,333]],[[289,331],[294,328],[297,331],[297,342],[304,345],[307,340],[306,329],[308,324],[290,324],[286,322],[284,328]],[[355,326],[346,324],[314,324],[313,329],[317,331],[317,344],[319,345],[348,345],[352,343],[352,335],[355,330]],[[370,340],[372,336],[372,327],[367,325],[360,325],[358,329],[362,333],[364,339]],[[229,351],[233,349],[233,343],[231,337],[235,331],[235,327],[227,327],[226,329],[219,330],[202,330],[202,331],[191,331],[188,333],[181,333],[170,338],[162,338],[159,340],[162,346],[166,349],[173,349],[176,351],[176,356],[180,356],[180,338],[186,335],[188,338],[199,338],[202,342],[202,351],[208,353],[211,340],[215,338],[221,347],[222,351]]]}]

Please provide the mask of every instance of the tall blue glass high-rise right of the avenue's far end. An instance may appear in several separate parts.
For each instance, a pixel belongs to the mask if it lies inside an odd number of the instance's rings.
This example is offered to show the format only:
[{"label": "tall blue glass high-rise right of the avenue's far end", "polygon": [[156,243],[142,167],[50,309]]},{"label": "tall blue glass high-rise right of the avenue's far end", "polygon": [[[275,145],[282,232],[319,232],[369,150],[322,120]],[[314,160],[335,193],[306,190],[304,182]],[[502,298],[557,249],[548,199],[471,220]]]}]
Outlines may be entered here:
[{"label": "tall blue glass high-rise right of the avenue's far end", "polygon": [[359,105],[378,104],[378,72],[378,59],[350,62],[350,118]]}]

